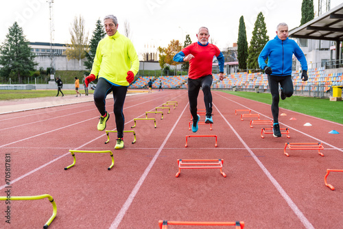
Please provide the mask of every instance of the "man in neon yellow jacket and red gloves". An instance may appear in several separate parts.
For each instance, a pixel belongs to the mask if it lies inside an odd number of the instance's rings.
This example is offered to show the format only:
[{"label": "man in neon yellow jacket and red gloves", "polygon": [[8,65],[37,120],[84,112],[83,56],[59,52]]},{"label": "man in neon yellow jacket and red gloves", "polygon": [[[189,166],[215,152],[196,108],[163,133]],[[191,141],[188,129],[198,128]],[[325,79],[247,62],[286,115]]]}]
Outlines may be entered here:
[{"label": "man in neon yellow jacket and red gloves", "polygon": [[104,27],[106,38],[99,41],[93,62],[91,75],[84,80],[86,86],[96,79],[97,87],[94,91],[94,102],[100,112],[97,130],[106,128],[110,114],[106,111],[106,96],[113,92],[115,101],[113,111],[117,125],[117,144],[115,149],[123,149],[124,115],[123,104],[128,91],[128,86],[134,80],[134,75],[139,71],[139,60],[132,42],[117,31],[117,17],[105,16]]}]

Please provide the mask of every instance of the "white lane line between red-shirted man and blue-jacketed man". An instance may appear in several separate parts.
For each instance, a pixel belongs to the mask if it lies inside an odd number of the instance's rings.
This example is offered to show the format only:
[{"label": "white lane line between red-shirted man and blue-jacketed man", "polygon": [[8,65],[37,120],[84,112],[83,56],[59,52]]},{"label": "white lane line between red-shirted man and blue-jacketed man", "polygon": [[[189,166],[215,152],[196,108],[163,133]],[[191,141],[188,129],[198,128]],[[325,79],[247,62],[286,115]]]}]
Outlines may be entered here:
[{"label": "white lane line between red-shirted man and blue-jacketed man", "polygon": [[312,226],[312,224],[309,222],[309,220],[305,217],[305,215],[298,208],[298,206],[296,206],[296,204],[294,204],[294,202],[292,201],[291,197],[289,197],[289,195],[287,195],[287,193],[285,192],[285,190],[283,190],[281,185],[275,180],[275,178],[273,178],[272,174],[270,174],[268,169],[265,168],[265,166],[262,164],[261,160],[259,160],[259,158],[254,154],[254,152],[252,152],[250,147],[248,147],[248,145],[246,145],[246,142],[241,138],[241,136],[239,136],[239,134],[236,132],[236,130],[233,128],[233,126],[228,122],[228,120],[224,117],[224,115],[222,115],[222,112],[220,112],[220,110],[214,104],[213,104],[213,106],[217,109],[217,111],[220,113],[222,118],[226,121],[226,123],[231,128],[231,130],[233,130],[233,132],[235,133],[235,135],[237,136],[239,141],[241,141],[241,143],[244,145],[244,147],[246,147],[246,149],[248,150],[249,154],[257,162],[257,165],[259,165],[259,167],[262,169],[263,173],[265,173],[265,175],[269,178],[269,180],[275,186],[277,191],[279,191],[279,193],[281,194],[283,199],[285,199],[285,201],[287,202],[288,206],[290,208],[292,208],[293,212],[300,219],[300,221],[303,223],[305,228],[307,228],[307,229],[312,229],[313,228],[314,229],[314,226]]}]

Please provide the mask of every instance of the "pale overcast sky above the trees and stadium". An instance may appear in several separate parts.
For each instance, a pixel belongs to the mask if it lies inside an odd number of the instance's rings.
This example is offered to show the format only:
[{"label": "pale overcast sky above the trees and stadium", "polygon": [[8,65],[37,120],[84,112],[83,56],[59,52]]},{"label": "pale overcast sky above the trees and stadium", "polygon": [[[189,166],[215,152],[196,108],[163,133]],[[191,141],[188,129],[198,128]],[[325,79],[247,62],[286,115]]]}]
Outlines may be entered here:
[{"label": "pale overcast sky above the trees and stadium", "polygon": [[[185,40],[186,34],[196,42],[199,27],[209,28],[215,44],[224,49],[237,43],[239,18],[244,16],[248,43],[259,12],[263,12],[268,36],[274,38],[276,25],[285,22],[289,29],[298,27],[303,0],[54,0],[54,42],[69,43],[71,22],[83,16],[89,38],[97,19],[107,14],[117,16],[119,32],[123,21],[130,23],[131,40],[137,52],[146,45],[166,47],[170,40]],[[331,9],[343,0],[331,0]],[[50,42],[49,3],[47,0],[0,1],[0,42],[8,28],[17,21],[30,42]],[[318,12],[318,0],[314,0]]]}]

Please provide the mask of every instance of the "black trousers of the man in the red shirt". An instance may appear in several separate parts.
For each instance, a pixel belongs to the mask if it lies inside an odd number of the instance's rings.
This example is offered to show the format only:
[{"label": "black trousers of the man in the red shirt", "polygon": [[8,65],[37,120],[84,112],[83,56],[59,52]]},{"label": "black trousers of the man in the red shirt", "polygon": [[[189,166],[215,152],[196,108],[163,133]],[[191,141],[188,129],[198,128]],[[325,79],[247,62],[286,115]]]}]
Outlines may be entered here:
[{"label": "black trousers of the man in the red shirt", "polygon": [[205,75],[196,80],[188,78],[188,99],[189,99],[189,110],[193,120],[198,120],[197,106],[198,106],[198,95],[200,87],[202,87],[202,93],[204,93],[204,103],[206,108],[206,115],[212,115],[212,94],[211,85],[213,77],[212,75]]}]

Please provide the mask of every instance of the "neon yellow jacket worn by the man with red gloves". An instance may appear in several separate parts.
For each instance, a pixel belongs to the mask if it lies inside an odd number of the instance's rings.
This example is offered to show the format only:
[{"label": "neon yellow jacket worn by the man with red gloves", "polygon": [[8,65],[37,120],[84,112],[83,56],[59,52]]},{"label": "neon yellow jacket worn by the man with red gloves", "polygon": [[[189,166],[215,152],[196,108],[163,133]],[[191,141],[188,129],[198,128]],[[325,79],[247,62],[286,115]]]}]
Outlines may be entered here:
[{"label": "neon yellow jacket worn by the man with red gloves", "polygon": [[99,41],[91,74],[99,75],[113,84],[128,86],[128,71],[139,71],[137,52],[129,38],[117,31]]}]

